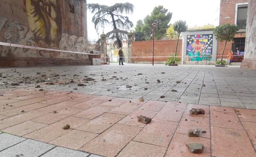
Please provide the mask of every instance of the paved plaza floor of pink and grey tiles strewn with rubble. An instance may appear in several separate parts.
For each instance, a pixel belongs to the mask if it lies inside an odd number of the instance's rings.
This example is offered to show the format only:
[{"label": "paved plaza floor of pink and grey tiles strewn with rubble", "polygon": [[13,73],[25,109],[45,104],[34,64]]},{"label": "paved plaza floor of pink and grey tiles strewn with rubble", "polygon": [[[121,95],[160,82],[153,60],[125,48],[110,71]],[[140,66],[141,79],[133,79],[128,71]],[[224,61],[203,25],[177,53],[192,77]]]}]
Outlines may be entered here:
[{"label": "paved plaza floor of pink and grey tiles strewn with rubble", "polygon": [[0,157],[256,157],[256,71],[114,64],[0,75]]}]

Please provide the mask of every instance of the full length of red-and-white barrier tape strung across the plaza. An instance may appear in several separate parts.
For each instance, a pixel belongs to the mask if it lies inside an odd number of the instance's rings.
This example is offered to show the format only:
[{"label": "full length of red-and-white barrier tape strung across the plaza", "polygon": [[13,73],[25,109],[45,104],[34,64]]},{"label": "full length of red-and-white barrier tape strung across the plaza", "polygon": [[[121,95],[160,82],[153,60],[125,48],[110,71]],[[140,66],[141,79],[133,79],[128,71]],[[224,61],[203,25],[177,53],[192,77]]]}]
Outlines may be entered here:
[{"label": "full length of red-and-white barrier tape strung across the plaza", "polygon": [[[3,46],[12,46],[12,47],[20,47],[20,48],[26,48],[26,49],[36,49],[36,50],[45,50],[45,51],[55,51],[55,52],[68,52],[68,53],[80,53],[80,54],[87,54],[87,55],[99,55],[99,54],[91,54],[91,53],[84,53],[84,52],[75,52],[75,51],[65,51],[65,50],[56,50],[56,49],[47,49],[47,48],[41,48],[36,46],[26,46],[26,45],[19,45],[19,44],[11,44],[6,42],[0,42],[0,45]],[[210,55],[210,56],[201,56],[201,57],[221,57],[221,56],[228,56],[228,55]],[[232,55],[235,56],[244,56],[244,55]],[[154,58],[168,58],[173,56],[154,56]],[[176,57],[187,57],[187,56],[176,56]],[[194,56],[197,57],[197,56]],[[108,58],[108,57],[105,57]],[[119,57],[112,57],[112,58],[119,58]],[[137,56],[137,57],[123,57],[123,58],[153,58],[153,56]]]}]

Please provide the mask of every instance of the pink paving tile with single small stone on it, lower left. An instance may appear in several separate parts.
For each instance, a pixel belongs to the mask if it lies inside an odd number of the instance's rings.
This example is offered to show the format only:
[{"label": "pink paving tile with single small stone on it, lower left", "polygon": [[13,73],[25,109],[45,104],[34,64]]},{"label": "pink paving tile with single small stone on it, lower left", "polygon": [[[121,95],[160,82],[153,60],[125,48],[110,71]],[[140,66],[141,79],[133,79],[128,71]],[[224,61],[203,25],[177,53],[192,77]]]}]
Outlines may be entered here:
[{"label": "pink paving tile with single small stone on it, lower left", "polygon": [[[42,142],[49,142],[86,122],[88,122],[88,119],[78,117],[66,117],[65,119],[62,119],[59,122],[50,124],[39,130],[35,130],[32,133],[25,135],[24,137],[35,139]],[[62,126],[66,124],[69,124],[70,128],[66,130],[62,129]]]}]

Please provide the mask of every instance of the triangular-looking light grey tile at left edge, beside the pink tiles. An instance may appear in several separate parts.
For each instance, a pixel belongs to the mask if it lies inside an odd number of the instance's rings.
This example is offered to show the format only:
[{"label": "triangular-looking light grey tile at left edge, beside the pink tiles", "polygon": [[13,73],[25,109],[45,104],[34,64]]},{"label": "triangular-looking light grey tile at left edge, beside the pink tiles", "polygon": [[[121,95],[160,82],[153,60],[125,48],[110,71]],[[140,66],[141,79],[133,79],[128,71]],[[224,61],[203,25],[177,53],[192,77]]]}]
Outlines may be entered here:
[{"label": "triangular-looking light grey tile at left edge, beside the pink tiles", "polygon": [[0,134],[0,151],[4,150],[10,146],[13,146],[15,144],[18,144],[20,142],[23,142],[24,140],[26,140],[26,139],[23,137],[18,137],[18,136],[14,136],[14,135],[10,135],[10,134],[1,132],[1,134]]}]

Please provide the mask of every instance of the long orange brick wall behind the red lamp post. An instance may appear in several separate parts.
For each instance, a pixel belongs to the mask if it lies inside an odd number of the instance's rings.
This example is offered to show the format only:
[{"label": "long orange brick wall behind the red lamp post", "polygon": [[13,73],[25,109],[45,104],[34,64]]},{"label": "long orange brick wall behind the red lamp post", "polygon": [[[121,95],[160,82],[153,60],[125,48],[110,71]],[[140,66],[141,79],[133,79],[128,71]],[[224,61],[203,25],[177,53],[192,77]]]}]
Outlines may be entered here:
[{"label": "long orange brick wall behind the red lamp post", "polygon": [[[159,40],[155,41],[154,56],[171,56],[175,53],[177,40]],[[152,41],[142,41],[132,43],[133,57],[149,57],[152,56]],[[177,56],[182,55],[182,40],[178,42]],[[181,58],[181,57],[180,57]],[[166,61],[167,58],[155,58],[154,61]],[[152,58],[132,58],[133,62],[151,62]]]}]

